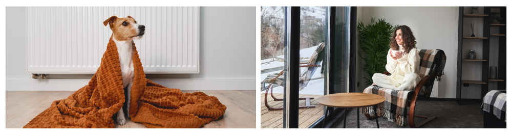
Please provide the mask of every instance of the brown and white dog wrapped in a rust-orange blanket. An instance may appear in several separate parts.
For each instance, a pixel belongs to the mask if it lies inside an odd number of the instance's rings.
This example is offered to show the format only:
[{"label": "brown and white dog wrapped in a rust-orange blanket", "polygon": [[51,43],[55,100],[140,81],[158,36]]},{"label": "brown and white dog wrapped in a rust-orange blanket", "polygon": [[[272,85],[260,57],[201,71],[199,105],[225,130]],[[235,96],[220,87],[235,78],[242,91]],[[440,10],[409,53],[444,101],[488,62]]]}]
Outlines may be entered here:
[{"label": "brown and white dog wrapped in a rust-orange blanket", "polygon": [[126,112],[130,109],[130,91],[134,80],[134,68],[133,68],[133,40],[140,39],[144,35],[145,26],[140,25],[135,21],[135,19],[131,16],[127,16],[126,18],[118,18],[117,16],[112,16],[109,19],[103,21],[103,24],[106,26],[110,25],[110,29],[112,30],[113,40],[116,43],[117,52],[119,53],[119,62],[121,64],[121,73],[123,78],[123,89],[125,89],[125,106],[121,108],[117,112],[117,116],[114,120],[115,123],[124,125],[126,124],[126,119],[123,113],[123,108],[126,108]]}]

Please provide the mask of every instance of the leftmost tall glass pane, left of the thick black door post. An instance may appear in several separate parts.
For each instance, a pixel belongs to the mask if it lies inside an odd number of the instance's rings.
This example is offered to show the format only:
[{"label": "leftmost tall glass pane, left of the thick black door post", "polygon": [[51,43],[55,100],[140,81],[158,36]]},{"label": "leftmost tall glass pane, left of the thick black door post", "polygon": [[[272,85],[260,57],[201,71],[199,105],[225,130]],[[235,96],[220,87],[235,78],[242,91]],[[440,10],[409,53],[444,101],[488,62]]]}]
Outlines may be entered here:
[{"label": "leftmost tall glass pane, left of the thick black door post", "polygon": [[[261,7],[261,128],[283,128],[285,7]],[[273,80],[273,81],[272,81]],[[266,100],[265,100],[266,95]],[[268,105],[268,107],[267,107]]]}]

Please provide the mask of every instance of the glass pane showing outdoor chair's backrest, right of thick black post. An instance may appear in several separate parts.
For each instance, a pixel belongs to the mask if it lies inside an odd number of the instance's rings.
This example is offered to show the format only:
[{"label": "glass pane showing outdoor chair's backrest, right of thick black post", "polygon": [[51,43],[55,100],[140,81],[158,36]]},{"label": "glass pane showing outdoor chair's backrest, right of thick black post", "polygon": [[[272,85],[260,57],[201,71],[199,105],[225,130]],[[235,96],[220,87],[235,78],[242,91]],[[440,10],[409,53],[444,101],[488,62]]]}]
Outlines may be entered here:
[{"label": "glass pane showing outdoor chair's backrest, right of thick black post", "polygon": [[[324,95],[324,64],[327,47],[327,7],[301,7],[299,97],[313,97],[308,102],[300,99],[298,128],[307,128],[324,115],[323,105],[316,102]],[[309,106],[309,108],[307,108]]]}]

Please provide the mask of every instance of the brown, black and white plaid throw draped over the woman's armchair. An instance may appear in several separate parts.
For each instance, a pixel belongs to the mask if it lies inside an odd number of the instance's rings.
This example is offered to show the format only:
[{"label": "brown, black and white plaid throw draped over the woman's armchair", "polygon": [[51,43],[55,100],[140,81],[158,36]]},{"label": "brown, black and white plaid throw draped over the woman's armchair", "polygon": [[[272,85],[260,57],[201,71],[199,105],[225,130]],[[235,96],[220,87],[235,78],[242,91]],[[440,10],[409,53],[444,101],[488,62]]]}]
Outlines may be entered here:
[{"label": "brown, black and white plaid throw draped over the woman's armchair", "polygon": [[[443,75],[444,65],[446,64],[446,55],[443,50],[419,50],[420,56],[419,74],[421,78],[426,75]],[[436,77],[439,81],[440,76]],[[432,92],[434,79],[431,79],[421,87],[418,95],[429,96]],[[377,105],[377,116],[395,122],[400,126],[406,124],[407,98],[410,92],[414,90],[396,91],[379,86],[370,86],[363,93],[372,93],[383,96],[386,100]],[[373,107],[362,107],[361,113],[375,115]]]}]

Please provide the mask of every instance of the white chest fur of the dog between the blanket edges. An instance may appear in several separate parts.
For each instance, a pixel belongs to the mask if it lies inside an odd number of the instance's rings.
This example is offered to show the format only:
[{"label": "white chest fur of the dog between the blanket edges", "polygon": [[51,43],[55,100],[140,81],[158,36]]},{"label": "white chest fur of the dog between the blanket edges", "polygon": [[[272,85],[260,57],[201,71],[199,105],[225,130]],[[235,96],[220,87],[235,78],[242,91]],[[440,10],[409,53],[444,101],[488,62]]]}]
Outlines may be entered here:
[{"label": "white chest fur of the dog between the blanket edges", "polygon": [[116,43],[117,52],[119,53],[121,73],[123,76],[123,88],[125,88],[128,84],[133,82],[133,78],[135,76],[132,60],[133,40],[117,41],[115,38],[113,40]]}]

